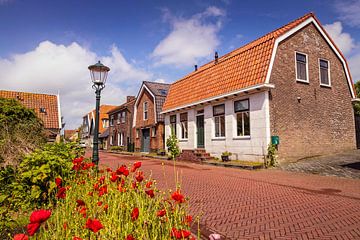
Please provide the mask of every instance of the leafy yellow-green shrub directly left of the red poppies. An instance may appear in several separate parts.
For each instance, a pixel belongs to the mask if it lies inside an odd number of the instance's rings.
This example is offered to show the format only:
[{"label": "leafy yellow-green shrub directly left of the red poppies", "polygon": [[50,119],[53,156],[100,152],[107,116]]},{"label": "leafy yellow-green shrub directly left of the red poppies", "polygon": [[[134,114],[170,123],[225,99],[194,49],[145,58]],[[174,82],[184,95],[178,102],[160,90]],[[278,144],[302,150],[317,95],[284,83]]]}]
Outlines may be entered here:
[{"label": "leafy yellow-green shrub directly left of the red poppies", "polygon": [[0,233],[9,230],[16,212],[55,201],[56,177],[71,177],[72,159],[83,154],[74,143],[47,144],[26,155],[19,166],[0,169]]}]

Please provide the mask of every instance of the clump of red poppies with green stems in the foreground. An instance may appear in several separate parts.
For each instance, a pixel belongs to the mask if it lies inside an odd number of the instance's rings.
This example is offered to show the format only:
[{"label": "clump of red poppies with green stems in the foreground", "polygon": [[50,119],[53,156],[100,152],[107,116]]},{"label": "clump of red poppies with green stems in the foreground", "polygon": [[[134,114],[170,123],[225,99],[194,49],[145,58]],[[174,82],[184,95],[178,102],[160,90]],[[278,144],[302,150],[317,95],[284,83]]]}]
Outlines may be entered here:
[{"label": "clump of red poppies with green stems in the foreground", "polygon": [[34,211],[27,232],[13,239],[195,239],[187,199],[163,192],[146,178],[141,162],[96,171],[84,158],[73,175],[56,178],[56,206]]}]

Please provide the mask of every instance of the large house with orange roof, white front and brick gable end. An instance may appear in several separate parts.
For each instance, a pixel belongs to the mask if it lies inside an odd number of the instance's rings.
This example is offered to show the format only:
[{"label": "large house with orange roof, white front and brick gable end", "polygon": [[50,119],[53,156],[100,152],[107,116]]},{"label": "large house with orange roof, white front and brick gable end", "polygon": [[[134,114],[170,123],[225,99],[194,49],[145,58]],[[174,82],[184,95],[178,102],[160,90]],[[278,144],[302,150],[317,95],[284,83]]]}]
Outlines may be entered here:
[{"label": "large house with orange roof, white front and brick gable end", "polygon": [[346,59],[309,13],[173,83],[165,137],[172,128],[183,150],[242,160],[263,159],[276,138],[280,160],[354,149],[354,93]]}]

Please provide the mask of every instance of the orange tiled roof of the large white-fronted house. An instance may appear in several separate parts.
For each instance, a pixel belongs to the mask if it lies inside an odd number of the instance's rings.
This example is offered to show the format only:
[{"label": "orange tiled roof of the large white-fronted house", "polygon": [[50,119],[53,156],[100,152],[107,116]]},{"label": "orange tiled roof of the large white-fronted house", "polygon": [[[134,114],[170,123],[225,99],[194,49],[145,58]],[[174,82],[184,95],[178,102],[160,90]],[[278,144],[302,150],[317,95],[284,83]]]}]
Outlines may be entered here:
[{"label": "orange tiled roof of the large white-fronted house", "polygon": [[275,40],[310,17],[318,22],[313,13],[308,13],[176,81],[170,87],[163,111],[264,84]]}]

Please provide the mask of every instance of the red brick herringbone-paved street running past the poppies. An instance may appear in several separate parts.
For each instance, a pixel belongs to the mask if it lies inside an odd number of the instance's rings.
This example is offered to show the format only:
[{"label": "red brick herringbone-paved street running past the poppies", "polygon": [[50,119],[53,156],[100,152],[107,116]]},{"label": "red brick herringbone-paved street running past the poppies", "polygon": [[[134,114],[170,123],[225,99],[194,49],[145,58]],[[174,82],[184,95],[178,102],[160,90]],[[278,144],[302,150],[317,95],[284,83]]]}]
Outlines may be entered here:
[{"label": "red brick herringbone-paved street running past the poppies", "polygon": [[116,168],[143,162],[158,187],[190,197],[201,228],[222,239],[360,239],[360,180],[281,170],[248,171],[100,153]]}]

